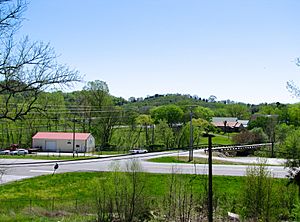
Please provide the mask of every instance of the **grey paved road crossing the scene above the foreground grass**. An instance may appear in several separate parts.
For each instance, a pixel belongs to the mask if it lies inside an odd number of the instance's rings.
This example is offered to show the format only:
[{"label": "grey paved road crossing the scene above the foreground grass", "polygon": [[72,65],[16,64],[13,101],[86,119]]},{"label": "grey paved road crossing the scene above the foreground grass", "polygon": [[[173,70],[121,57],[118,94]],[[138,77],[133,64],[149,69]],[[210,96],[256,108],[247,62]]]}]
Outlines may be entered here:
[{"label": "grey paved road crossing the scene above the foreground grass", "polygon": [[[142,170],[151,173],[184,173],[184,174],[207,174],[207,164],[171,164],[171,163],[152,163],[147,159],[169,155],[187,155],[187,152],[163,152],[163,153],[148,153],[137,154],[119,157],[107,157],[104,159],[81,160],[71,162],[58,162],[59,168],[56,173],[65,172],[89,172],[89,171],[111,171],[112,165],[118,164],[121,170],[126,170],[126,164],[131,159],[140,160]],[[195,156],[204,155],[201,152],[195,152]],[[20,180],[29,177],[35,177],[44,174],[52,174],[53,167],[56,161],[42,163],[38,160],[0,160],[0,168],[5,169],[5,175],[2,177],[1,183]],[[238,162],[241,162],[239,160]],[[30,164],[29,164],[30,163]],[[13,164],[13,165],[9,165]],[[244,176],[246,165],[213,165],[214,175],[229,175],[229,176]],[[287,170],[282,166],[269,166],[268,170],[272,172],[274,177],[283,178],[287,174]]]}]

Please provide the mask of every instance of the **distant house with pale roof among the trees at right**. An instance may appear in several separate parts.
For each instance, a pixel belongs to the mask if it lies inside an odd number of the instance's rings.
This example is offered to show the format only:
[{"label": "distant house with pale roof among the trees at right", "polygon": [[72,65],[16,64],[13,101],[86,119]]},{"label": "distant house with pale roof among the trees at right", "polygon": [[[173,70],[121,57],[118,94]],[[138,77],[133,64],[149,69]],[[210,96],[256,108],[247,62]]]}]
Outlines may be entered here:
[{"label": "distant house with pale roof among the trees at right", "polygon": [[238,120],[235,117],[213,117],[212,124],[224,132],[240,132],[248,126],[248,120]]}]

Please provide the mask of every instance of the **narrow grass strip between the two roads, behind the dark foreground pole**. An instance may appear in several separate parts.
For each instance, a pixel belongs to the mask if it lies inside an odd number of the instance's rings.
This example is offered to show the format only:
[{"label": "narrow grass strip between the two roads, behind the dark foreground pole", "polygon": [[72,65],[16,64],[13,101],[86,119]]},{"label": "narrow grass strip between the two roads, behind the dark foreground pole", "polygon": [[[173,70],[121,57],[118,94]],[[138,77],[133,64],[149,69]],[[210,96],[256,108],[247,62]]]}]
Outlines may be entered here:
[{"label": "narrow grass strip between the two roads, behind the dark foreground pole", "polygon": [[[164,157],[157,157],[148,159],[149,162],[154,163],[189,163],[189,164],[207,164],[208,160],[207,158],[201,158],[201,157],[194,157],[193,161],[189,161],[189,157],[187,156],[164,156]],[[223,164],[223,165],[249,165],[249,166],[256,166],[261,164],[255,164],[255,163],[242,163],[242,162],[232,162],[232,161],[225,161],[225,160],[212,160],[213,164]],[[265,166],[273,166],[271,164],[262,164]],[[274,165],[278,166],[278,165]]]}]

